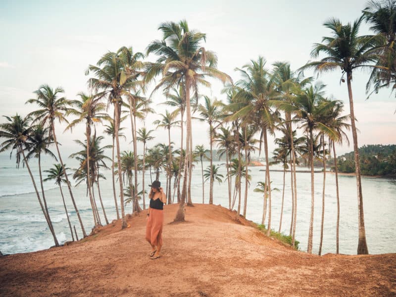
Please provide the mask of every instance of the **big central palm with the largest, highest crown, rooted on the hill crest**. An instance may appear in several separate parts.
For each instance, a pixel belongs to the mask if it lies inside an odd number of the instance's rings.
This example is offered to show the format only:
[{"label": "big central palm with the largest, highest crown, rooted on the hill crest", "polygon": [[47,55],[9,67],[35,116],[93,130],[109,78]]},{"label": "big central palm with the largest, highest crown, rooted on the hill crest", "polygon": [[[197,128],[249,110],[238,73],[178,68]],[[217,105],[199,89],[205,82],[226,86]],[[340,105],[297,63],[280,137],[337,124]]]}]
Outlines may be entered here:
[{"label": "big central palm with the largest, highest crown, rooted on the hill crest", "polygon": [[210,86],[205,77],[213,77],[223,83],[231,81],[230,76],[216,68],[217,57],[214,52],[206,50],[201,42],[206,40],[206,35],[197,31],[190,31],[187,21],[179,23],[162,23],[158,30],[162,31],[162,40],[151,42],[147,54],[155,53],[159,58],[154,63],[148,63],[146,81],[162,74],[162,79],[154,91],[164,87],[165,91],[178,86],[183,86],[186,100],[187,134],[186,158],[184,166],[184,181],[182,199],[175,221],[184,221],[184,203],[187,196],[187,169],[191,164],[190,142],[191,136],[191,90],[198,95],[198,85]]}]

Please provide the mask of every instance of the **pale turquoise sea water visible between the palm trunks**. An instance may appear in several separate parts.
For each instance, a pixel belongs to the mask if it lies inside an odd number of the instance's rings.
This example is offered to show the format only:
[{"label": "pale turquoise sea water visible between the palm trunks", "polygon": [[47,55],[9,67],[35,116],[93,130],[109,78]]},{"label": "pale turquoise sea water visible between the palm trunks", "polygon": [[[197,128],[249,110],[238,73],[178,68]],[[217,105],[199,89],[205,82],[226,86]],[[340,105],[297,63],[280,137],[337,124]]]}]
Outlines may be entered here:
[{"label": "pale turquoise sea water visible between the palm trunks", "polygon": [[[35,160],[31,161],[36,183],[39,186],[38,166]],[[48,169],[52,160],[44,160],[43,169]],[[74,160],[66,161],[68,167],[75,168]],[[221,164],[220,162],[215,162]],[[2,253],[18,253],[45,249],[53,245],[47,223],[40,209],[36,194],[34,193],[31,179],[26,168],[22,165],[15,168],[14,159],[9,160],[8,155],[0,155],[0,250]],[[204,167],[208,162],[204,163]],[[263,167],[251,167],[251,186],[248,190],[247,219],[261,223],[263,198],[253,189],[258,181],[264,179]],[[274,167],[274,169],[278,169]],[[107,180],[101,181],[101,194],[109,221],[116,218],[114,198],[112,194],[111,172],[103,172]],[[225,176],[226,168],[221,166],[220,173]],[[270,172],[272,187],[282,190],[283,173]],[[139,176],[141,178],[141,174]],[[146,184],[150,180],[149,172],[146,173]],[[161,178],[165,181],[165,178]],[[282,222],[282,231],[289,234],[291,221],[291,191],[290,173],[286,175],[285,205]],[[319,248],[320,220],[322,205],[323,174],[315,173],[315,218],[313,252]],[[355,254],[357,248],[357,197],[356,180],[351,176],[339,176],[340,187],[340,252]],[[66,214],[63,209],[62,199],[58,186],[52,182],[44,184],[49,213],[54,224],[55,233],[60,242],[71,240]],[[245,186],[242,186],[245,189]],[[396,252],[396,181],[379,178],[362,178],[364,218],[366,226],[367,245],[370,253]],[[73,187],[87,233],[93,227],[92,210],[89,199],[86,197],[84,186]],[[74,208],[66,187],[62,188],[65,195],[69,217],[75,225],[79,238],[82,234]],[[205,184],[205,202],[208,201],[208,184]],[[327,174],[325,190],[325,224],[322,254],[336,251],[336,193],[335,175]],[[301,250],[306,250],[310,214],[310,174],[297,173],[297,228],[296,238],[300,242]],[[96,194],[96,197],[99,196]],[[244,196],[244,190],[242,197]],[[272,194],[272,223],[276,231],[279,228],[282,192]],[[193,172],[192,182],[193,202],[202,202],[202,184],[200,164]],[[99,203],[99,198],[98,198]],[[214,204],[228,207],[227,183],[214,184]],[[236,208],[237,205],[235,205]],[[243,209],[243,205],[241,206]],[[126,206],[126,211],[132,211],[132,205]],[[102,215],[101,209],[99,209]],[[268,217],[268,216],[267,216]],[[102,221],[104,219],[102,218]],[[266,223],[267,224],[267,223]],[[142,235],[143,236],[143,235]],[[166,243],[165,243],[166,244]]]}]

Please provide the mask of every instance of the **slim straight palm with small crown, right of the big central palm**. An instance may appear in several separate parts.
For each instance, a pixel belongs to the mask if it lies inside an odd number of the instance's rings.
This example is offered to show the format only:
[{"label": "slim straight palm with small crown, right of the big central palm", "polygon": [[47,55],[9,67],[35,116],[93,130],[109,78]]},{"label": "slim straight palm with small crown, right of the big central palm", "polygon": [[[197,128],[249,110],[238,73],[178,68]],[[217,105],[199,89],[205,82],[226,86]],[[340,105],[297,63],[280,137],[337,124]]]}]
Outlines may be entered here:
[{"label": "slim straight palm with small crown, right of the big central palm", "polygon": [[[209,144],[210,144],[210,166],[209,169],[212,170],[213,167],[213,138],[216,135],[216,132],[213,128],[213,124],[218,122],[220,114],[221,114],[221,101],[217,99],[210,99],[207,96],[203,97],[205,99],[205,104],[199,104],[198,111],[200,113],[200,120],[204,120],[209,124]],[[209,175],[210,184],[209,184],[209,204],[213,204],[213,173]]]}]

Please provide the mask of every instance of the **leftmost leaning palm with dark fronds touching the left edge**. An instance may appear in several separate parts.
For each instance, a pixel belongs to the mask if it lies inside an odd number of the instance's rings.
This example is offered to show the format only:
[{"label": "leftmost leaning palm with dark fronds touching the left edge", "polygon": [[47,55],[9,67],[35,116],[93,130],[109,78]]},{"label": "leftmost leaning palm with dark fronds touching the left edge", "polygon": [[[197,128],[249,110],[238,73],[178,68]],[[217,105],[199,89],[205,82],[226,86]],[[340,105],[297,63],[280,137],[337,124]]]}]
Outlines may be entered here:
[{"label": "leftmost leaning palm with dark fronds touching the left edge", "polygon": [[0,124],[0,138],[5,138],[6,140],[0,144],[0,152],[11,149],[10,158],[12,157],[12,152],[16,150],[16,167],[19,168],[21,162],[21,155],[23,160],[23,165],[29,171],[30,178],[32,179],[33,187],[36,192],[37,198],[40,203],[41,210],[43,211],[44,217],[46,218],[49,231],[52,234],[53,241],[56,247],[59,247],[58,240],[56,239],[55,232],[52,227],[52,223],[49,219],[46,209],[44,208],[43,202],[40,198],[39,191],[36,187],[36,182],[34,181],[32,171],[30,170],[29,163],[25,156],[25,150],[29,149],[29,144],[26,142],[29,138],[32,128],[29,126],[31,122],[31,117],[26,116],[22,118],[20,115],[8,117],[4,116],[8,122]]}]

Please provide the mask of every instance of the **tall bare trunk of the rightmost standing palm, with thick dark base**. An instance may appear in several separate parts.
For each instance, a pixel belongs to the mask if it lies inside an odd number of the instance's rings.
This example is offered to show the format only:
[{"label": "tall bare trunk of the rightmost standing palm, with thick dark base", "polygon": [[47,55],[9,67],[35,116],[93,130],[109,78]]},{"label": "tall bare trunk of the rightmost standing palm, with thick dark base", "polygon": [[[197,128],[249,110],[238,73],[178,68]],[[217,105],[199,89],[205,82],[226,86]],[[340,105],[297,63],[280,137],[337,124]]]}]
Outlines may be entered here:
[{"label": "tall bare trunk of the rightmost standing palm, with thick dark base", "polygon": [[351,80],[352,80],[351,73],[347,73],[350,121],[352,126],[353,150],[355,154],[354,156],[355,156],[355,172],[356,172],[356,188],[357,188],[357,209],[358,209],[358,222],[359,222],[359,242],[357,244],[357,254],[359,255],[359,254],[368,254],[368,248],[366,243],[366,230],[364,228],[363,193],[362,193],[362,184],[360,177],[360,158],[359,158],[359,149],[357,146],[357,133],[356,133],[356,125],[355,125],[355,115],[353,111]]}]

